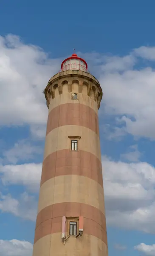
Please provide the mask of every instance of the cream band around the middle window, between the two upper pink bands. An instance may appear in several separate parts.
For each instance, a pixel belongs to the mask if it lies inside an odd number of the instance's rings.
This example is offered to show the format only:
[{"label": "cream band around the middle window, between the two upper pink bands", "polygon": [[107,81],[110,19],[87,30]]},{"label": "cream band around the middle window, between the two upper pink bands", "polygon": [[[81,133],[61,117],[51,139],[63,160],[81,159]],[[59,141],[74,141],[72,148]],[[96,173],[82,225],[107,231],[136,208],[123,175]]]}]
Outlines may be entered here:
[{"label": "cream band around the middle window, between the two upper pink bands", "polygon": [[49,132],[45,140],[44,159],[55,151],[69,149],[68,136],[80,136],[78,148],[94,154],[101,161],[99,136],[89,128],[80,125],[64,125]]}]

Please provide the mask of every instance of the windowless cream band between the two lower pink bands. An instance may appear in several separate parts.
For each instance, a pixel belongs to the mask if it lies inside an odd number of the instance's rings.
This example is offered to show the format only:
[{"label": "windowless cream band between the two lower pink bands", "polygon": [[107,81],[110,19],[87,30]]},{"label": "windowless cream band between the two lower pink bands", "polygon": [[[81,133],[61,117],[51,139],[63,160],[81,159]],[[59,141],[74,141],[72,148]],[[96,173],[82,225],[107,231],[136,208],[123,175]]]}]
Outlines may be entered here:
[{"label": "windowless cream band between the two lower pink bands", "polygon": [[51,204],[75,202],[89,204],[104,212],[104,192],[95,180],[79,175],[62,175],[40,187],[38,212]]}]

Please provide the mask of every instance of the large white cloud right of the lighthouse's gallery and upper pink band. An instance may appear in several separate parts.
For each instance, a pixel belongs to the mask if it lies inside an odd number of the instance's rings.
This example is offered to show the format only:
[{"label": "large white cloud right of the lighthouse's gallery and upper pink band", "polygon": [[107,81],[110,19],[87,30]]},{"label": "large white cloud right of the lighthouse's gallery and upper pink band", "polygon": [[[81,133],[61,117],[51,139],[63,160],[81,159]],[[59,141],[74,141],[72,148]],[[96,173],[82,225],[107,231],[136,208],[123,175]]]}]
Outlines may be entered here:
[{"label": "large white cloud right of the lighthouse's gallery and upper pink band", "polygon": [[149,61],[141,65],[143,59],[155,60],[155,47],[140,47],[122,57],[94,52],[92,59],[91,54],[85,56],[104,92],[100,116],[106,113],[115,120],[113,127],[107,124],[113,129],[109,139],[128,133],[155,139],[155,70]]}]

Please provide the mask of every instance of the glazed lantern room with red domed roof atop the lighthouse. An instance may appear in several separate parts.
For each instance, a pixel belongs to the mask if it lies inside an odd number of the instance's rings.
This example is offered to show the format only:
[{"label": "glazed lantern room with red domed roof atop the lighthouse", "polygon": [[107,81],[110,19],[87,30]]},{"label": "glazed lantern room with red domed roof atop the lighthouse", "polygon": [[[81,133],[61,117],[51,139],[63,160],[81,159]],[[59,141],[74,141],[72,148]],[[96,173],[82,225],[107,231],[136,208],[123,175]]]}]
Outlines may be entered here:
[{"label": "glazed lantern room with red domed roof atop the lighthouse", "polygon": [[71,57],[62,61],[61,71],[66,70],[82,70],[87,72],[87,62],[79,58],[76,53],[73,53]]}]

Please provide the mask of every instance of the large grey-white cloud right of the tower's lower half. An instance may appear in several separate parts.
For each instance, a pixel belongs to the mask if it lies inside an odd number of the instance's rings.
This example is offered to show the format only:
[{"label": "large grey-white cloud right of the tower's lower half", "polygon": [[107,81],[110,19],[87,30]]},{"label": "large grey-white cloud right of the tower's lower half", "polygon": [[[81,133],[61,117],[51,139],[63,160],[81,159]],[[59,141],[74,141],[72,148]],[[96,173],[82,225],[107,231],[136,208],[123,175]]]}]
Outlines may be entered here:
[{"label": "large grey-white cloud right of the tower's lower half", "polygon": [[155,232],[155,168],[148,163],[110,161],[106,157],[104,193],[107,223]]}]

